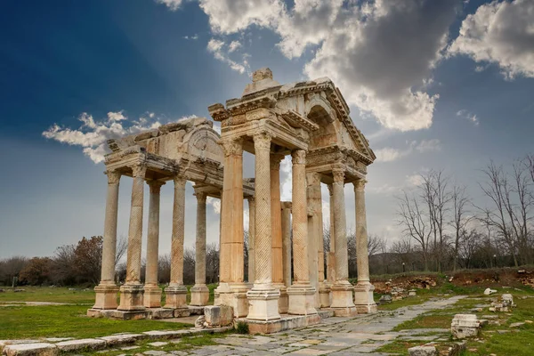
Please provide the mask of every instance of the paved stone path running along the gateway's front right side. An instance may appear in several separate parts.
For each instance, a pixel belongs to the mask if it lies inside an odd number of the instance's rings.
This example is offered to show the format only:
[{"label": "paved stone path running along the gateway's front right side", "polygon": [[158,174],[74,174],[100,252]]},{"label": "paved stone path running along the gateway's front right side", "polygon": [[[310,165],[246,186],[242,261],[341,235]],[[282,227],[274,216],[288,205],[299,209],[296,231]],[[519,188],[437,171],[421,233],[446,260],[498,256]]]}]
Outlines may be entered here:
[{"label": "paved stone path running along the gateway's front right side", "polygon": [[[435,309],[442,309],[464,295],[453,296],[448,299],[431,300],[429,302],[400,308],[392,312],[378,312],[371,315],[361,315],[357,318],[328,318],[319,325],[308,328],[288,330],[269,336],[231,335],[215,339],[219,344],[204,346],[189,352],[163,352],[154,350],[143,352],[144,355],[385,355],[375,352],[377,348],[392,342],[397,337],[404,340],[417,339],[433,341],[436,336],[413,336],[427,331],[448,333],[448,329],[415,329],[393,332],[392,328],[406,320],[412,320],[418,315]],[[179,340],[171,342],[179,343]],[[164,343],[168,344],[168,343]],[[131,350],[130,352],[134,352]],[[125,353],[126,354],[126,353]],[[132,354],[132,353],[130,353]]]}]

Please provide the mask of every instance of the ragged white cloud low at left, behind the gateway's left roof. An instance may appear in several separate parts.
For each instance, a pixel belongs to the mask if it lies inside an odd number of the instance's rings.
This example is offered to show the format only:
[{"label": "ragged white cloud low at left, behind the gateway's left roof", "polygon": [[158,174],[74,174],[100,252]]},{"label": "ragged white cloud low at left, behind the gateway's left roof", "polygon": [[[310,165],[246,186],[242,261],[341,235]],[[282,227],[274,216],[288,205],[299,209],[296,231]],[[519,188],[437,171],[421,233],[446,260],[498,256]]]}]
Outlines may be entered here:
[{"label": "ragged white cloud low at left, behind the gateway's left roof", "polygon": [[107,117],[107,119],[95,121],[92,115],[84,112],[78,117],[81,125],[77,129],[53,124],[43,132],[43,136],[71,146],[81,146],[85,156],[91,158],[94,163],[100,163],[103,162],[104,155],[108,153],[106,142],[109,139],[123,137],[128,134],[139,134],[146,130],[158,128],[161,125],[154,113],[148,113],[146,117],[130,120],[125,117],[124,111],[121,110],[109,112]]}]

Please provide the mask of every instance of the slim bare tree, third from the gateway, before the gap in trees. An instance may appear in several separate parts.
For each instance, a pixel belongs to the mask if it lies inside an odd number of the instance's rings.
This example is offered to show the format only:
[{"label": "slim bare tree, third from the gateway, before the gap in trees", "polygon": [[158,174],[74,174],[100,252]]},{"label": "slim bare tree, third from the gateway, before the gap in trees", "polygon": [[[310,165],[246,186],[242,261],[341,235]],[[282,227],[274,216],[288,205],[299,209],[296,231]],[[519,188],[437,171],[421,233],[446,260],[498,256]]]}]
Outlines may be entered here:
[{"label": "slim bare tree, third from the gateway, before the gap in trees", "polygon": [[450,225],[454,231],[454,256],[452,262],[452,270],[457,270],[458,249],[460,242],[466,233],[467,224],[473,219],[472,216],[467,216],[469,207],[469,198],[465,195],[465,187],[455,185],[452,188],[452,221]]}]

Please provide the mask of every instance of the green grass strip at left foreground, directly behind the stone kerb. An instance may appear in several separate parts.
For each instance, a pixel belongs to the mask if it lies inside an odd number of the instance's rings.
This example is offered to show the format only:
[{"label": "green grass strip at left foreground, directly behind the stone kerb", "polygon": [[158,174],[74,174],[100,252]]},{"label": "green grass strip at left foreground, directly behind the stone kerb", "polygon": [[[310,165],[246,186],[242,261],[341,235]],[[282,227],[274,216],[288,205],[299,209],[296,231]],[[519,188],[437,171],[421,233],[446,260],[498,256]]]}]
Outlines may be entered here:
[{"label": "green grass strip at left foreground, directly behind the stone kerb", "polygon": [[97,337],[115,333],[191,328],[157,320],[89,318],[84,305],[0,306],[0,335],[5,339]]}]

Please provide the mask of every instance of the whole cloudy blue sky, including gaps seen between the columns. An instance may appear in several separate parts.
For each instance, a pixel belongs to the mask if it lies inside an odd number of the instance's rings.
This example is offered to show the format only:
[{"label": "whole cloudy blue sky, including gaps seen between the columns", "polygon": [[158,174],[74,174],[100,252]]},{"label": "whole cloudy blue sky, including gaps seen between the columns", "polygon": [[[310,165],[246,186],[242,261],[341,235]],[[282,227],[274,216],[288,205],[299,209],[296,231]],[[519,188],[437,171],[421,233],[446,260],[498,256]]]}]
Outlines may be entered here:
[{"label": "whole cloudy blue sky, including gaps seen between the columns", "polygon": [[[378,157],[368,169],[368,231],[390,240],[399,237],[393,195],[418,174],[443,168],[480,201],[480,168],[534,152],[531,0],[8,0],[0,24],[0,258],[52,255],[101,235],[102,140],[208,117],[208,105],[239,97],[261,67],[280,83],[331,77],[340,87]],[[245,175],[253,167],[246,157]],[[124,236],[130,189],[123,178]],[[187,191],[189,247],[196,199]],[[167,184],[162,253],[171,210]],[[207,221],[215,241],[214,206]]]}]

